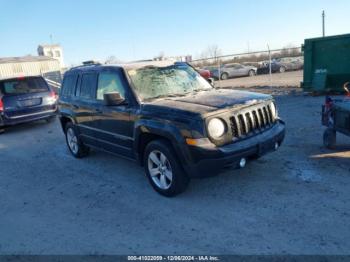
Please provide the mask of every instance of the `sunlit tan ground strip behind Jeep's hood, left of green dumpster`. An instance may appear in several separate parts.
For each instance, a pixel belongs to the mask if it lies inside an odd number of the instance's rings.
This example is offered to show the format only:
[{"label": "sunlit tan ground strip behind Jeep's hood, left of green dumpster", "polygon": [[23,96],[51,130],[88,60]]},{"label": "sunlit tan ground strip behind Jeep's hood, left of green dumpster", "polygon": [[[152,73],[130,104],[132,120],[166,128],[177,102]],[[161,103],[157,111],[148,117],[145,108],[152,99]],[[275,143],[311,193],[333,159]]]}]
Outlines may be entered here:
[{"label": "sunlit tan ground strip behind Jeep's hood, left of green dumpster", "polygon": [[218,87],[251,87],[251,86],[300,86],[303,80],[303,71],[275,73],[270,75],[257,75],[252,77],[238,77],[225,81],[216,81]]}]

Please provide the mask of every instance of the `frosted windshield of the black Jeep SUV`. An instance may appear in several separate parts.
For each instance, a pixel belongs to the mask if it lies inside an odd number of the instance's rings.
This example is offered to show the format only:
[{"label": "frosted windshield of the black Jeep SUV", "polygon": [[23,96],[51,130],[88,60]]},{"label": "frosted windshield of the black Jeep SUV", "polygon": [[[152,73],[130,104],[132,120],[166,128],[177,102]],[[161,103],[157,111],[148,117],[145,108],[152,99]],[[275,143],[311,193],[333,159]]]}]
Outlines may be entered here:
[{"label": "frosted windshield of the black Jeep SUV", "polygon": [[213,87],[188,65],[147,66],[127,70],[140,100],[209,90]]}]

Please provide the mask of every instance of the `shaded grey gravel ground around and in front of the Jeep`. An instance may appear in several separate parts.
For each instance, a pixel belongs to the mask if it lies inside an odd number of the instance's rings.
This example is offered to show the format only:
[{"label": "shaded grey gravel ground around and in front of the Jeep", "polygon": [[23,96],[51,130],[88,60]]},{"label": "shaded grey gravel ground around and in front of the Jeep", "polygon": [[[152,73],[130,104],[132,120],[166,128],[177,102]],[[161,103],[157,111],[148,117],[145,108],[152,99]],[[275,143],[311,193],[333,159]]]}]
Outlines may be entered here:
[{"label": "shaded grey gravel ground around and in front of the Jeep", "polygon": [[172,199],[133,162],[102,152],[74,159],[58,121],[8,130],[0,136],[0,253],[349,254],[350,139],[322,147],[323,98],[255,90],[276,95],[287,124],[280,150],[193,180]]}]

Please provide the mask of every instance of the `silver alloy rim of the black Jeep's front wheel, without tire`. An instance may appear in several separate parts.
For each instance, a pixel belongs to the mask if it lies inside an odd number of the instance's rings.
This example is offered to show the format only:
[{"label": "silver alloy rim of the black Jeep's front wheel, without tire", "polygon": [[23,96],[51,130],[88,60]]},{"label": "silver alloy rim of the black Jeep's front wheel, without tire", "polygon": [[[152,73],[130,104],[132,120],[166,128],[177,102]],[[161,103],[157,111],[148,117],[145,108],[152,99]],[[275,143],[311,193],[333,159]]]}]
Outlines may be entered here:
[{"label": "silver alloy rim of the black Jeep's front wheel, without tire", "polygon": [[173,172],[169,160],[162,152],[154,150],[148,155],[148,171],[157,187],[163,190],[170,188]]}]

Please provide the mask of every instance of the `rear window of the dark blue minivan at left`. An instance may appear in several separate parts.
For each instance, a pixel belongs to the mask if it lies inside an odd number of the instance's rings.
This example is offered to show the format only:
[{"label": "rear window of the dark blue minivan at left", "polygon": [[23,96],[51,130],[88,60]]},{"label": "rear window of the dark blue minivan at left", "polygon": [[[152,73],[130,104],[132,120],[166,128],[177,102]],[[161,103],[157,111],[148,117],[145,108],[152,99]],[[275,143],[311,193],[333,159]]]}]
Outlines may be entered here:
[{"label": "rear window of the dark blue minivan at left", "polygon": [[4,95],[20,95],[47,92],[49,90],[45,80],[41,77],[19,78],[0,82],[0,89]]}]

